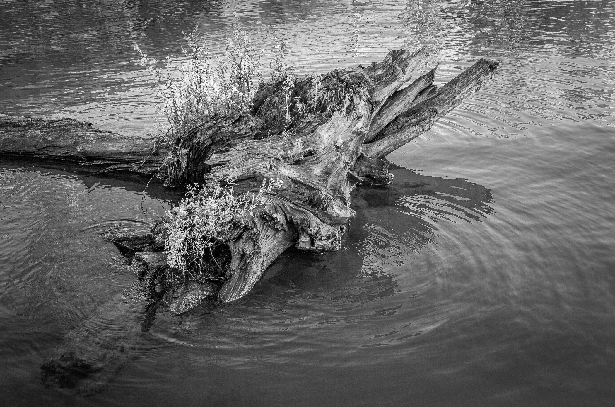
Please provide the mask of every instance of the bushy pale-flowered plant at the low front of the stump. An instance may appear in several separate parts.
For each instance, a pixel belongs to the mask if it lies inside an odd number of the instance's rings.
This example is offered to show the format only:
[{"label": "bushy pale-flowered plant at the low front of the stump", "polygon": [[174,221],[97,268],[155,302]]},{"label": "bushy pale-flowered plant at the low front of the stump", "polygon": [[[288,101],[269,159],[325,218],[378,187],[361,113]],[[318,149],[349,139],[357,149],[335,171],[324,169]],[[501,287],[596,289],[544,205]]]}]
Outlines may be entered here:
[{"label": "bushy pale-flowered plant at the low front of the stump", "polygon": [[[165,227],[165,254],[170,266],[167,280],[183,283],[188,280],[207,279],[212,259],[218,269],[221,265],[213,255],[220,243],[229,241],[237,220],[244,214],[253,214],[256,206],[264,203],[264,194],[282,187],[282,180],[266,180],[258,192],[233,195],[231,188],[218,183],[207,188],[197,185],[188,188],[187,197],[167,211]],[[216,279],[210,278],[210,279]]]}]

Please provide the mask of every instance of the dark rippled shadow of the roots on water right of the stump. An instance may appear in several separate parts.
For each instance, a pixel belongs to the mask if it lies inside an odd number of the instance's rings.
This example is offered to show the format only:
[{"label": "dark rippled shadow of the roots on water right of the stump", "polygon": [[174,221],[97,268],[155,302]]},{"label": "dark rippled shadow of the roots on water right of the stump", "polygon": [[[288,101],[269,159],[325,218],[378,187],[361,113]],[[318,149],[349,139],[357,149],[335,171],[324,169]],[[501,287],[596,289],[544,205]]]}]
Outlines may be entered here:
[{"label": "dark rippled shadow of the roots on water right of the stump", "polygon": [[433,244],[437,222],[482,222],[493,212],[491,190],[482,185],[421,175],[395,164],[391,172],[391,185],[359,186],[353,192],[357,216],[340,251],[315,255],[288,249],[247,298],[265,305],[272,297],[285,301],[300,293],[358,305],[392,296],[397,283],[387,270]]}]

